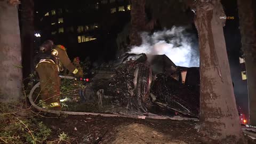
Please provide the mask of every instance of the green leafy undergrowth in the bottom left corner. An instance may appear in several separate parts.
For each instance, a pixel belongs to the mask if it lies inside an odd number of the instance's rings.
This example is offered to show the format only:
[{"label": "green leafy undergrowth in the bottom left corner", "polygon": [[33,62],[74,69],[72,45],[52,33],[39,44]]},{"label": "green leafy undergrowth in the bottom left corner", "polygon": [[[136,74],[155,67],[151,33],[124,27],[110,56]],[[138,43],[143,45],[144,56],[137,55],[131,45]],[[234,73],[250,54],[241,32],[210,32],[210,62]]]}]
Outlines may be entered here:
[{"label": "green leafy undergrowth in the bottom left corner", "polygon": [[15,115],[15,107],[1,103],[0,143],[43,143],[51,134],[35,117],[22,118]]}]

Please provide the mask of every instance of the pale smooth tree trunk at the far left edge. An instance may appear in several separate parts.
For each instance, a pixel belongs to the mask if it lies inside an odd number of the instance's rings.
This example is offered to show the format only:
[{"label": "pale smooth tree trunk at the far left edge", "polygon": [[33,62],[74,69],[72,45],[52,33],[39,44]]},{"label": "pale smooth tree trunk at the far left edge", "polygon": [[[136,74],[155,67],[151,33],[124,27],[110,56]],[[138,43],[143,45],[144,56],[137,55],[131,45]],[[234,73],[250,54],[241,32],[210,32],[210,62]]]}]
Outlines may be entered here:
[{"label": "pale smooth tree trunk at the far left edge", "polygon": [[18,9],[6,0],[0,1],[0,101],[21,97],[22,67]]}]

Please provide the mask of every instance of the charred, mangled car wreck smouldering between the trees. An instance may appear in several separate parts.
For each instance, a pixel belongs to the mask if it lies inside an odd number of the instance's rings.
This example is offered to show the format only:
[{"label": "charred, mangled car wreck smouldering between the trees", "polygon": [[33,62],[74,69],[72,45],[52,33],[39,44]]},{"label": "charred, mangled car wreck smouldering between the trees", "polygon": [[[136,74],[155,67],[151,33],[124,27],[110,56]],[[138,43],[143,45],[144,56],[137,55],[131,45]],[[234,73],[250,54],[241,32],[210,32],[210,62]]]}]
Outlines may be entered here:
[{"label": "charred, mangled car wreck smouldering between the trees", "polygon": [[126,53],[92,74],[79,92],[81,101],[107,113],[119,107],[143,115],[199,115],[199,68],[176,66],[166,55]]}]

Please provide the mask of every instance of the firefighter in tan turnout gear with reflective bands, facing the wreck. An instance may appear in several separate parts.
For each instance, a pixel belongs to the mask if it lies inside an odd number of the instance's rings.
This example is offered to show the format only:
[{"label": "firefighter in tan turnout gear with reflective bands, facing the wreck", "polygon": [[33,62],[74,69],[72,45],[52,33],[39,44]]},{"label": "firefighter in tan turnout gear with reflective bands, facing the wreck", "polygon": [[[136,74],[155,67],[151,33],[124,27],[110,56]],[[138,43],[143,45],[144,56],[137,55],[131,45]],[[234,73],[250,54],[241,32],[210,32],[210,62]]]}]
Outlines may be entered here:
[{"label": "firefighter in tan turnout gear with reflective bands, facing the wreck", "polygon": [[63,67],[72,71],[74,75],[82,76],[71,63],[63,45],[53,45],[51,40],[45,41],[40,47],[39,61],[36,65],[36,71],[40,79],[42,100],[45,108],[60,110],[60,77],[59,72]]}]

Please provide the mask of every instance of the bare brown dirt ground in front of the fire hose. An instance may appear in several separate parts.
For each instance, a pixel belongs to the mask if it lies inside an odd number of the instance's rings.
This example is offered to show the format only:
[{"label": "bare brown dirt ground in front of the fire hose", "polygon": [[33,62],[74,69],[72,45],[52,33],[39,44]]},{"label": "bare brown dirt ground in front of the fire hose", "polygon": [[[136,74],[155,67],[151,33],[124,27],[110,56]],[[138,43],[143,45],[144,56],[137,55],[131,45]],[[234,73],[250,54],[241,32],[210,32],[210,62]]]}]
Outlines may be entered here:
[{"label": "bare brown dirt ground in front of the fire hose", "polygon": [[201,143],[194,121],[68,116],[43,122],[52,129],[50,139],[65,132],[70,143]]}]

